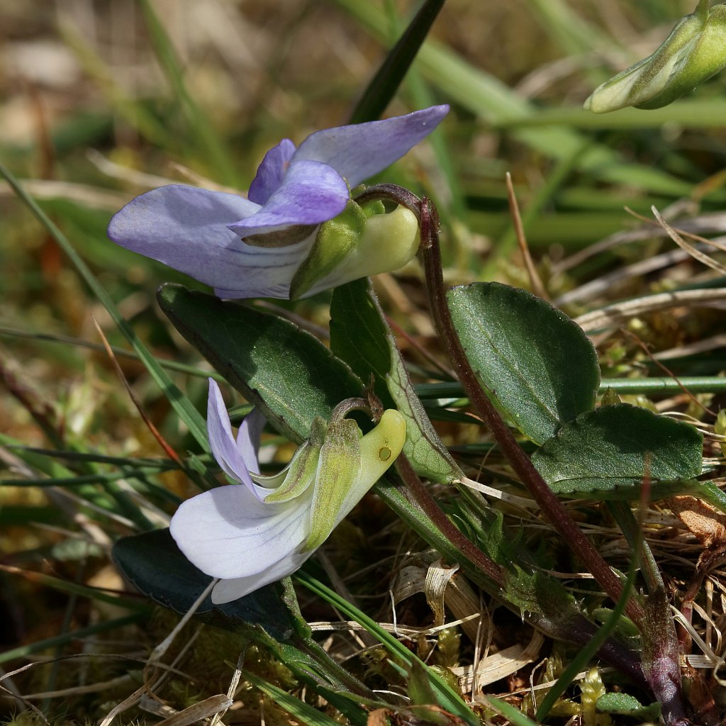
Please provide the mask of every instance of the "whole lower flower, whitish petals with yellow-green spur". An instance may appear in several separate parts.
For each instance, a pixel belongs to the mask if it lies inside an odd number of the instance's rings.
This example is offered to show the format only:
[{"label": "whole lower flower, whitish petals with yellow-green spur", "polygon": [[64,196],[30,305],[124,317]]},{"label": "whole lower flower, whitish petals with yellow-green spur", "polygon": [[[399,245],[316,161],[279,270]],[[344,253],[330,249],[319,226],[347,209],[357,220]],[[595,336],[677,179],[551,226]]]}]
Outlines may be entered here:
[{"label": "whole lower flower, whitish petals with yellow-green spur", "polygon": [[403,448],[406,423],[388,409],[362,436],[351,419],[316,419],[311,437],[277,476],[259,474],[256,449],[264,418],[251,413],[232,434],[219,386],[209,380],[209,443],[238,484],[187,499],[171,536],[201,571],[220,578],[212,602],[237,600],[297,570],[330,536]]}]

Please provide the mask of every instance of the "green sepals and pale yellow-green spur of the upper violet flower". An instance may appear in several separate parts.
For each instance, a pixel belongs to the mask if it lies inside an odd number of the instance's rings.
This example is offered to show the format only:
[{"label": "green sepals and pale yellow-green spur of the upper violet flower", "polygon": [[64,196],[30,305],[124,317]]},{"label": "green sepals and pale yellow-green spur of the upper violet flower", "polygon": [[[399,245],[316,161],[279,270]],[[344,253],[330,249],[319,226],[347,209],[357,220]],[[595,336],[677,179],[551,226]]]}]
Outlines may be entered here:
[{"label": "green sepals and pale yellow-green spur of the upper violet flower", "polygon": [[290,299],[391,272],[412,259],[419,244],[418,221],[412,211],[397,207],[385,213],[383,203],[361,206],[351,200],[343,213],[320,225],[309,255],[290,284]]}]

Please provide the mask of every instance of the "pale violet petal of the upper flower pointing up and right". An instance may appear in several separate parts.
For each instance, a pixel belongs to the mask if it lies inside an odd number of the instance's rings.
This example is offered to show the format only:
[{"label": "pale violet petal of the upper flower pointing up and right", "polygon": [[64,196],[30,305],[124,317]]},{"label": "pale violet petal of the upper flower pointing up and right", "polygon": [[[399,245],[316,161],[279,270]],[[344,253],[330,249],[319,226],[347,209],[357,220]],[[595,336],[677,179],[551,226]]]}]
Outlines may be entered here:
[{"label": "pale violet petal of the upper flower pointing up and right", "polygon": [[292,163],[303,159],[322,161],[343,176],[351,188],[356,187],[431,134],[447,113],[447,105],[431,106],[384,121],[316,131],[300,144]]}]

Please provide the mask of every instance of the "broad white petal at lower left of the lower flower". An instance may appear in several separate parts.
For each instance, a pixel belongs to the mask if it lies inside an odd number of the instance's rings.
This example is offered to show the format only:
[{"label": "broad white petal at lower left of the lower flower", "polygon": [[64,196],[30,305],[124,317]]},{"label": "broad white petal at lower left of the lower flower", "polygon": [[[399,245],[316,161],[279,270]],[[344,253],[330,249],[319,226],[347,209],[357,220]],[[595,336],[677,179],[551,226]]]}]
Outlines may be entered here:
[{"label": "broad white petal at lower left of the lower flower", "polygon": [[181,552],[205,574],[222,579],[256,575],[305,541],[310,497],[266,505],[246,486],[218,486],[182,502],[169,529]]}]

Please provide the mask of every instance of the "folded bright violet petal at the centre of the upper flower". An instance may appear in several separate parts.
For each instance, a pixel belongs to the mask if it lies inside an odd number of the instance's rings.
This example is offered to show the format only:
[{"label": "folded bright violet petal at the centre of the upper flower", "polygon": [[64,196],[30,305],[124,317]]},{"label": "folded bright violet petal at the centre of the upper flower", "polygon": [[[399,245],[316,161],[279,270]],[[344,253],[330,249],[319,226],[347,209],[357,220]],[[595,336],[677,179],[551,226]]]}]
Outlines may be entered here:
[{"label": "folded bright violet petal at the centre of the upper flower", "polygon": [[229,224],[229,229],[248,237],[292,224],[320,224],[338,216],[348,196],[348,186],[335,169],[319,161],[293,160],[264,207]]}]

